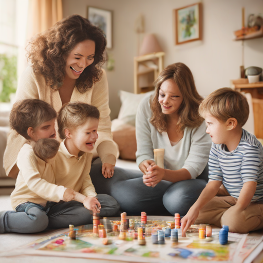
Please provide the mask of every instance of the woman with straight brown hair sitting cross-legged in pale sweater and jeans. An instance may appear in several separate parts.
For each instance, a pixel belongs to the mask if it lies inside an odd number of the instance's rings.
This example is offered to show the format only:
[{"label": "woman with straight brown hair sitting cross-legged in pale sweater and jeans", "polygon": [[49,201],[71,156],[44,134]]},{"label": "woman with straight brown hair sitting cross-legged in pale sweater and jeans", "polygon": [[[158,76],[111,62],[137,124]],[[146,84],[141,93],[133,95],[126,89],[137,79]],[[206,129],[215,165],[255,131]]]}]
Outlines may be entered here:
[{"label": "woman with straight brown hair sitting cross-legged in pale sweater and jeans", "polygon": [[[140,102],[136,116],[136,156],[143,175],[126,170],[121,177],[116,170],[105,194],[112,195],[130,215],[168,211],[183,216],[208,181],[212,142],[198,115],[202,97],[191,70],[182,63],[172,64],[155,85],[155,93]],[[164,168],[154,161],[156,148],[165,150]]]}]

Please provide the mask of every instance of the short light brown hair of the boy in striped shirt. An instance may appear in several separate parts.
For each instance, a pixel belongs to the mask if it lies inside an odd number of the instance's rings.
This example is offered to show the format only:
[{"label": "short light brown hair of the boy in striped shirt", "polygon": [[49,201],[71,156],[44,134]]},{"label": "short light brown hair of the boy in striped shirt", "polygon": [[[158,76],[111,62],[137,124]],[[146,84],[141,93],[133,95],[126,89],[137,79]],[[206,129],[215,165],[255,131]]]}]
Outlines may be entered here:
[{"label": "short light brown hair of the boy in striped shirt", "polygon": [[211,114],[221,122],[235,118],[242,127],[249,118],[249,104],[242,93],[231,88],[219,88],[202,101],[198,113],[203,118]]}]

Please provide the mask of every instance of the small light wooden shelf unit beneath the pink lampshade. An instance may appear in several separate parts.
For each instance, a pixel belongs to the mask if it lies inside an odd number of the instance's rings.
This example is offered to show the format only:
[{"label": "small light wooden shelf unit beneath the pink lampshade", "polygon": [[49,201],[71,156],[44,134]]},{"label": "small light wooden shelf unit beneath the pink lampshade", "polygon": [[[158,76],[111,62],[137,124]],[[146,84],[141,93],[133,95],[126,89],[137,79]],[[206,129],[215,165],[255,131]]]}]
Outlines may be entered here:
[{"label": "small light wooden shelf unit beneath the pink lampshade", "polygon": [[[142,74],[149,74],[154,72],[154,80],[157,79],[158,74],[163,70],[164,52],[156,52],[147,55],[141,55],[134,58],[134,93],[147,92],[154,89],[153,83],[149,83],[143,90],[139,87],[139,77]],[[154,67],[148,66],[147,62],[154,62]],[[139,71],[140,64],[144,65],[144,70]]]}]

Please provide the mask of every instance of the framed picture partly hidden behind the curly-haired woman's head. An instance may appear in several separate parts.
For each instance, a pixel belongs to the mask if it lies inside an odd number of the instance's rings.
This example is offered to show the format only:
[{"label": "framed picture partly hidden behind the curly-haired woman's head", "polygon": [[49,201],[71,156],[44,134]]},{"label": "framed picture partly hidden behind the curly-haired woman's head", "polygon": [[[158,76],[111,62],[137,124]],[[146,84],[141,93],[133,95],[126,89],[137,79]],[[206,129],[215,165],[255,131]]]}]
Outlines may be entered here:
[{"label": "framed picture partly hidden behind the curly-haired woman's head", "polygon": [[112,11],[89,6],[87,8],[87,19],[103,30],[107,40],[106,47],[112,48]]}]

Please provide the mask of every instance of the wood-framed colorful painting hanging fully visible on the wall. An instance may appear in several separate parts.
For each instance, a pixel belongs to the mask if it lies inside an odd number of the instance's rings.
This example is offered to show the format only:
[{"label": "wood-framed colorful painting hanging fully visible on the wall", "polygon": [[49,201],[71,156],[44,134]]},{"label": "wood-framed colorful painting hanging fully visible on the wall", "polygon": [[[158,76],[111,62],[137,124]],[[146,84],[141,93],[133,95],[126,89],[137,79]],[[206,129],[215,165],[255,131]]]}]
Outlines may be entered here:
[{"label": "wood-framed colorful painting hanging fully visible on the wall", "polygon": [[202,4],[174,9],[175,44],[202,39]]}]

